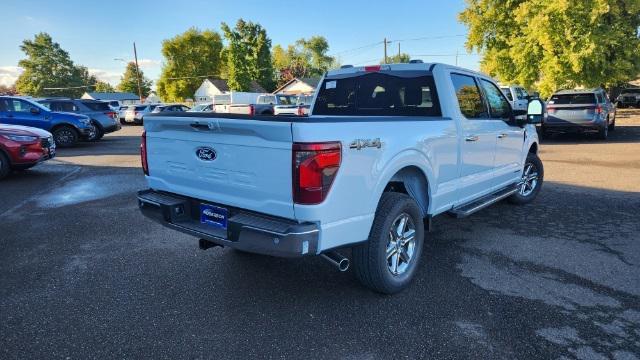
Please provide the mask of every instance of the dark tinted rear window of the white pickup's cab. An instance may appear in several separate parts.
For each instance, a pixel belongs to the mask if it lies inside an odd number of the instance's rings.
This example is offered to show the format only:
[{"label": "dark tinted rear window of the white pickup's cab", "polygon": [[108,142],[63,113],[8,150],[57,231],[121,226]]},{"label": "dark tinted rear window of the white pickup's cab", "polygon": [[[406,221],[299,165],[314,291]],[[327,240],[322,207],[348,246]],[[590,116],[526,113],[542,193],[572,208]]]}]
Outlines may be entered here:
[{"label": "dark tinted rear window of the white pickup's cab", "polygon": [[313,114],[442,116],[431,75],[406,77],[379,72],[325,79]]}]

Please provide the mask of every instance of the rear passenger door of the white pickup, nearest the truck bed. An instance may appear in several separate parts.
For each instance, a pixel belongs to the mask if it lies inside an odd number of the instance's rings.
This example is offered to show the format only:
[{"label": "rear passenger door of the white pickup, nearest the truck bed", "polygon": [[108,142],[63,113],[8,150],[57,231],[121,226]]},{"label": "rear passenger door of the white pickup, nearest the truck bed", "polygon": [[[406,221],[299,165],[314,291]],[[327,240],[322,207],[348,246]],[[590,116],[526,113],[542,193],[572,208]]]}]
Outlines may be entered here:
[{"label": "rear passenger door of the white pickup, nearest the truck bed", "polygon": [[476,79],[452,73],[451,81],[461,112],[462,139],[458,204],[487,194],[493,185],[493,162],[496,147],[494,120],[482,99]]}]

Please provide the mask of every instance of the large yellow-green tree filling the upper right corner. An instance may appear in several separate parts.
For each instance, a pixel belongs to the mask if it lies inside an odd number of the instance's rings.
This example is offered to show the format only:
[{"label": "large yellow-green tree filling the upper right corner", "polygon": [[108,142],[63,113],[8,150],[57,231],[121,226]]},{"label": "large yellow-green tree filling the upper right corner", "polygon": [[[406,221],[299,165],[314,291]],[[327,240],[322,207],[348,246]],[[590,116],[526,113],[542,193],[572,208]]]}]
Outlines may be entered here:
[{"label": "large yellow-green tree filling the upper right corner", "polygon": [[459,19],[483,71],[505,82],[560,88],[614,85],[640,73],[638,0],[466,0]]}]

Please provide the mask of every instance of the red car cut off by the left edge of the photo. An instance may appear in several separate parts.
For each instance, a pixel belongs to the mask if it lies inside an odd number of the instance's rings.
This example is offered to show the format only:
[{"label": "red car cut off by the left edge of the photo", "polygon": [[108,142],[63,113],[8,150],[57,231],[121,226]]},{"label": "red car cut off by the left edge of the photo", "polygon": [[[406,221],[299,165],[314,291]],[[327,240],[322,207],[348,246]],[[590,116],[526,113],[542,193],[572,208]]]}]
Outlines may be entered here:
[{"label": "red car cut off by the left edge of the photo", "polygon": [[28,126],[0,124],[0,179],[11,170],[26,170],[56,154],[50,132]]}]

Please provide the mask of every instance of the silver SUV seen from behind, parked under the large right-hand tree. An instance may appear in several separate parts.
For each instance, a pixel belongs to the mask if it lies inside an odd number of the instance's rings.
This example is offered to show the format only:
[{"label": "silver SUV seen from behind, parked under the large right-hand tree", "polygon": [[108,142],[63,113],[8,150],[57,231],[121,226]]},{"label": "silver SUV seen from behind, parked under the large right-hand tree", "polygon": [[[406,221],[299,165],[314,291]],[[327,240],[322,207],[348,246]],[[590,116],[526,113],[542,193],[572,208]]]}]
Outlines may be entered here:
[{"label": "silver SUV seen from behind, parked under the large right-hand tree", "polygon": [[616,108],[603,89],[562,90],[547,101],[541,132],[597,132],[604,140],[615,126]]}]

